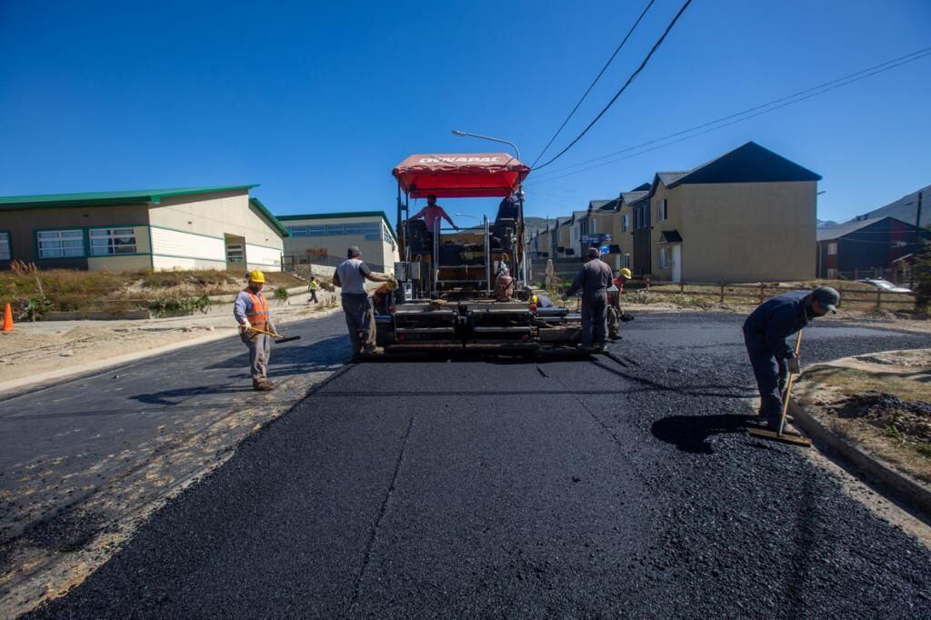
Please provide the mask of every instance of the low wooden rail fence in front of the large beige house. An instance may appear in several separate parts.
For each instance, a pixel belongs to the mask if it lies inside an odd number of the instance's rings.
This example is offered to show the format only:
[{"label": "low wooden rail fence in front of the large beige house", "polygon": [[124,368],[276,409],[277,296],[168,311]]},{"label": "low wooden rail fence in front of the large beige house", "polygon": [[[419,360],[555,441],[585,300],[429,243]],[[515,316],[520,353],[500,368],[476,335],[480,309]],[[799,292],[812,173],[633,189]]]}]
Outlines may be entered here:
[{"label": "low wooden rail fence in front of the large beige house", "polygon": [[[798,290],[776,284],[710,284],[710,283],[661,283],[651,284],[649,280],[644,280],[645,286],[641,290],[646,290],[655,295],[695,295],[706,298],[716,298],[719,303],[725,300],[741,300],[745,303],[763,303],[770,297],[781,295],[789,290]],[[630,287],[635,290],[636,285]],[[843,305],[863,305],[868,304],[870,307],[883,308],[885,305],[890,309],[905,310],[915,308],[914,293],[894,293],[880,289],[850,289],[839,287],[836,289],[841,294],[841,303]]]}]

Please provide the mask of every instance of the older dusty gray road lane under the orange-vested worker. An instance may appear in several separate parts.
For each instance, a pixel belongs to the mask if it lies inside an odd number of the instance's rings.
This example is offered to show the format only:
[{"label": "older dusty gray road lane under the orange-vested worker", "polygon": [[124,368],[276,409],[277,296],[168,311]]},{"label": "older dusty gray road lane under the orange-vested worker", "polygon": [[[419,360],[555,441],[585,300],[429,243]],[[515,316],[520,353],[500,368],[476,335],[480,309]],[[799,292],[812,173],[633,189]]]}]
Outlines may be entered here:
[{"label": "older dusty gray road lane under the orange-vested worker", "polygon": [[[348,359],[341,315],[282,329],[302,340],[275,347],[268,394],[252,392],[231,336],[0,401],[0,575],[14,574],[0,579],[0,610],[79,578],[38,560],[115,534]],[[94,561],[70,563],[86,572]]]}]

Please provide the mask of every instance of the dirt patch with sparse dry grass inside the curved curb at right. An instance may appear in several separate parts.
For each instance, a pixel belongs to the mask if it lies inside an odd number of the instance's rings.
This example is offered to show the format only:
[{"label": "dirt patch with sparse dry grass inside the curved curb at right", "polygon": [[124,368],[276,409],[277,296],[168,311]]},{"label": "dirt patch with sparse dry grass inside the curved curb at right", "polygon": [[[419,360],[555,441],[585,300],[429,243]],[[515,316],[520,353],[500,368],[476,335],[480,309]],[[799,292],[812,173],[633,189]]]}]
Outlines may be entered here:
[{"label": "dirt patch with sparse dry grass inside the curved curb at right", "polygon": [[897,471],[931,484],[931,349],[869,354],[805,371],[806,408]]}]

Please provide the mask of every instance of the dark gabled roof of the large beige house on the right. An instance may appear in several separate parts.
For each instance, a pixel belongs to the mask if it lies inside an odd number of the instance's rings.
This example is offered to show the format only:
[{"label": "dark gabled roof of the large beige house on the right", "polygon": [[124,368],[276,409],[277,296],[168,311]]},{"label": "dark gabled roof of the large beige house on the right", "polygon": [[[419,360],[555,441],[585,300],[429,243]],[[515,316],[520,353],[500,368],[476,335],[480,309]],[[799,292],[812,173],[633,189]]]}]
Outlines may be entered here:
[{"label": "dark gabled roof of the large beige house on the right", "polygon": [[684,184],[820,181],[821,175],[776,155],[756,142],[747,142],[733,151],[692,168],[688,172],[657,172],[651,195],[658,182],[669,189]]}]

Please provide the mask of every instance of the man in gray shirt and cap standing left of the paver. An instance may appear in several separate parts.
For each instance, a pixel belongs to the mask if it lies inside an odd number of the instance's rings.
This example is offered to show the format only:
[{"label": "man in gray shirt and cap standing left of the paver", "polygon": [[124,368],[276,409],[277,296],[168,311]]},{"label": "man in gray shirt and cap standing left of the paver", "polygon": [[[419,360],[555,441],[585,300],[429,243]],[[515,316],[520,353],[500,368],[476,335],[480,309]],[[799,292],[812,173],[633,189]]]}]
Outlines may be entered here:
[{"label": "man in gray shirt and cap standing left of the paver", "polygon": [[375,344],[375,313],[365,290],[365,281],[387,282],[392,278],[372,274],[369,265],[362,261],[362,251],[358,246],[349,246],[346,254],[348,258],[336,267],[333,284],[343,289],[343,312],[353,358],[358,359],[363,351],[370,354],[383,353],[384,349]]}]

